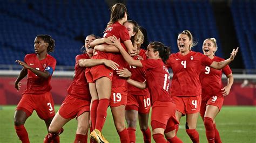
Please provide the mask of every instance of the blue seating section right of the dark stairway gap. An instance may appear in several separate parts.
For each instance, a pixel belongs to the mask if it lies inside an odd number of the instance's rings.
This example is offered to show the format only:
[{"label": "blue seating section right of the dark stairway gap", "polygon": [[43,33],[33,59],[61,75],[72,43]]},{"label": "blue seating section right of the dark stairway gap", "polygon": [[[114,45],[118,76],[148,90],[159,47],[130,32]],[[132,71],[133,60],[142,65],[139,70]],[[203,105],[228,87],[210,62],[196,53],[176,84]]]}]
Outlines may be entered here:
[{"label": "blue seating section right of the dark stairway gap", "polygon": [[246,69],[256,69],[256,1],[234,0],[231,11]]}]

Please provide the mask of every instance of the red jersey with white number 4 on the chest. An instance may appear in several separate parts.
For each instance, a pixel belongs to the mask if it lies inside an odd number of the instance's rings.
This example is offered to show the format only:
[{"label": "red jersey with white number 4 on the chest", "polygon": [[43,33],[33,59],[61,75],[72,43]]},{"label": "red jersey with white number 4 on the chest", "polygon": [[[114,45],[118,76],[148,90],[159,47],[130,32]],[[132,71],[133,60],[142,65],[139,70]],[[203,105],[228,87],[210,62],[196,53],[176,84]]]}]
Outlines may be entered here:
[{"label": "red jersey with white number 4 on the chest", "polygon": [[210,58],[199,52],[191,51],[185,56],[179,52],[171,54],[166,62],[166,66],[172,68],[173,71],[171,95],[200,96],[201,66],[210,66],[212,62]]}]

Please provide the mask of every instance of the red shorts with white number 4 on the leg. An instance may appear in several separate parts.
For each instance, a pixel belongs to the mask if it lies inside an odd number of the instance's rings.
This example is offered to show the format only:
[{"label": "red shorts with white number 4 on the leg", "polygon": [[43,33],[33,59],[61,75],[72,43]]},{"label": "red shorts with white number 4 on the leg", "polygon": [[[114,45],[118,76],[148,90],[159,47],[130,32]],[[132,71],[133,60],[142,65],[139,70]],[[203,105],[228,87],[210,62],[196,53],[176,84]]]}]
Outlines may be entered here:
[{"label": "red shorts with white number 4 on the leg", "polygon": [[201,96],[172,96],[172,98],[176,104],[176,110],[183,115],[200,112]]}]

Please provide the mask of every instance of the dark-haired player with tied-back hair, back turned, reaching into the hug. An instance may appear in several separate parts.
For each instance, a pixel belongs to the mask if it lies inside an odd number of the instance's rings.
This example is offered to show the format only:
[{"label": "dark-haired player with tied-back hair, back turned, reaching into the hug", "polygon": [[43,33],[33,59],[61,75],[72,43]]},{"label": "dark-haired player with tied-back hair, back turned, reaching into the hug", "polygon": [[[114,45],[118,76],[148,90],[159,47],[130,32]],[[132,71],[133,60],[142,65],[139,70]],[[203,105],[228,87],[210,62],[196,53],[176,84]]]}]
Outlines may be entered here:
[{"label": "dark-haired player with tied-back hair, back turned, reaching into the hug", "polygon": [[[116,37],[115,37],[116,39]],[[151,42],[147,47],[146,60],[134,60],[125,52],[120,42],[116,39],[116,47],[124,56],[124,59],[131,66],[143,67],[146,70],[146,82],[138,82],[127,80],[128,83],[140,88],[149,88],[152,101],[151,126],[153,130],[153,139],[156,142],[167,142],[165,137],[170,142],[182,142],[175,132],[175,125],[179,124],[175,117],[176,105],[172,102],[172,97],[169,93],[169,71],[165,66],[165,61],[170,55],[169,47],[165,47],[161,42]],[[120,76],[126,76],[127,69],[119,69],[117,72]]]}]

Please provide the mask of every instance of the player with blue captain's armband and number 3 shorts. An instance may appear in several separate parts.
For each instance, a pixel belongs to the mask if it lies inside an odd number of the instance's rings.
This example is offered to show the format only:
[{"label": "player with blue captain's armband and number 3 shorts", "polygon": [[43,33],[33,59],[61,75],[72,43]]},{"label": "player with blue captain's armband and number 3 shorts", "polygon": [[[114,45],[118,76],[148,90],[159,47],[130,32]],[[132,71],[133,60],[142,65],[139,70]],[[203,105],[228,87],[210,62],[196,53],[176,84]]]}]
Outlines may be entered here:
[{"label": "player with blue captain's armband and number 3 shorts", "polygon": [[[36,110],[39,118],[44,120],[47,130],[55,116],[50,80],[55,70],[56,60],[48,54],[54,51],[55,40],[50,35],[37,35],[34,48],[35,53],[26,54],[24,61],[16,60],[19,65],[23,66],[15,81],[17,90],[21,87],[20,81],[28,75],[26,89],[14,115],[15,130],[22,142],[29,142],[24,124],[26,119],[32,115],[33,110]],[[55,139],[55,142],[59,142],[59,137]]]}]

